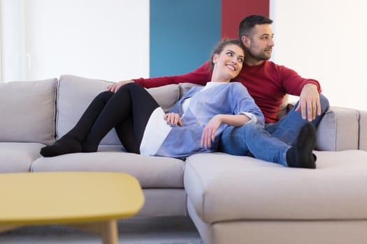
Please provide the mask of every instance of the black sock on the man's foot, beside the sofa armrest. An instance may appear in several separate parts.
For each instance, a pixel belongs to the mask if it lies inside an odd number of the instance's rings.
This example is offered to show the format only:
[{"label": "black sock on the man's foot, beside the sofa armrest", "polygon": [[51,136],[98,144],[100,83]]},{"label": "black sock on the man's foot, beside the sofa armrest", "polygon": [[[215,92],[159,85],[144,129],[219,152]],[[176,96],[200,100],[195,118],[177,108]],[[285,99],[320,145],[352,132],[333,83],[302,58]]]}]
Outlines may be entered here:
[{"label": "black sock on the man's foot, beside the sofa armrest", "polygon": [[316,168],[316,156],[312,153],[316,145],[316,129],[312,123],[305,123],[298,133],[296,142],[287,151],[287,164],[294,168]]}]

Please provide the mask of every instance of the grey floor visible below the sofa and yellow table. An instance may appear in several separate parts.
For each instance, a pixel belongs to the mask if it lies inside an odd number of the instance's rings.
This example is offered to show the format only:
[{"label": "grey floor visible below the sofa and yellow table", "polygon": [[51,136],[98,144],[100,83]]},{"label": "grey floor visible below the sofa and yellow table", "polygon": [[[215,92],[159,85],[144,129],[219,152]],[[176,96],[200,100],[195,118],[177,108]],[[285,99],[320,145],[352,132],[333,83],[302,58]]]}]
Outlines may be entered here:
[{"label": "grey floor visible below the sofa and yellow table", "polygon": [[[118,223],[119,244],[203,244],[189,218],[131,218]],[[96,234],[64,226],[22,227],[0,234],[1,244],[101,243]]]}]

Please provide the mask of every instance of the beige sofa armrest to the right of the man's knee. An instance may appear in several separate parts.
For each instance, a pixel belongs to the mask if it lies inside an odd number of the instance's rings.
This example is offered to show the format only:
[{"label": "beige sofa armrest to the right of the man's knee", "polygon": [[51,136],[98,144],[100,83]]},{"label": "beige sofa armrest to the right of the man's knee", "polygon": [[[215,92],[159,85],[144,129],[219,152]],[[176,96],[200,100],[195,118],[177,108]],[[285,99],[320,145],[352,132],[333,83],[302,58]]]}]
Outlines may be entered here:
[{"label": "beige sofa armrest to the right of the man's knee", "polygon": [[[363,114],[364,121],[367,114]],[[319,151],[343,151],[359,149],[360,139],[367,137],[359,134],[360,112],[356,109],[343,107],[330,107],[317,128],[316,150]],[[367,121],[363,124],[366,125]],[[363,144],[366,150],[366,143]]]}]

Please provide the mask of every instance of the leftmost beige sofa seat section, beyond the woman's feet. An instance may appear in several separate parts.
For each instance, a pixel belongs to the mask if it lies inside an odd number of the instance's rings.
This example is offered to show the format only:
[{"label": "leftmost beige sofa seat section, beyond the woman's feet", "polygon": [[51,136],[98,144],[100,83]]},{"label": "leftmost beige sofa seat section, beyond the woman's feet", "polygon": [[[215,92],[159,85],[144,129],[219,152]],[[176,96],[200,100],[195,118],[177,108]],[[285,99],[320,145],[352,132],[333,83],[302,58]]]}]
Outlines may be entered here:
[{"label": "leftmost beige sofa seat section, beyond the woman's feet", "polygon": [[29,172],[43,146],[37,142],[0,142],[0,172]]}]

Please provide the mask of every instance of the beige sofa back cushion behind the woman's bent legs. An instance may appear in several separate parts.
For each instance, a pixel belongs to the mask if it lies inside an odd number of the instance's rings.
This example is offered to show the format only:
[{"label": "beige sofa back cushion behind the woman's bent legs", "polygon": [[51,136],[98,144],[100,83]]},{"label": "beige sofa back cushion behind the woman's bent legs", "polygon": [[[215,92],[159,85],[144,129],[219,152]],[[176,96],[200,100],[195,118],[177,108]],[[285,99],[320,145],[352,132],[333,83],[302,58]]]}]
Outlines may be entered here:
[{"label": "beige sofa back cushion behind the woman's bent legs", "polygon": [[[57,138],[62,137],[73,128],[93,98],[102,91],[106,91],[107,86],[111,83],[73,75],[60,77],[57,88]],[[148,89],[148,91],[165,110],[169,109],[179,96],[178,85],[175,84]],[[111,130],[102,139],[101,144],[118,145],[121,143],[115,130]]]}]

